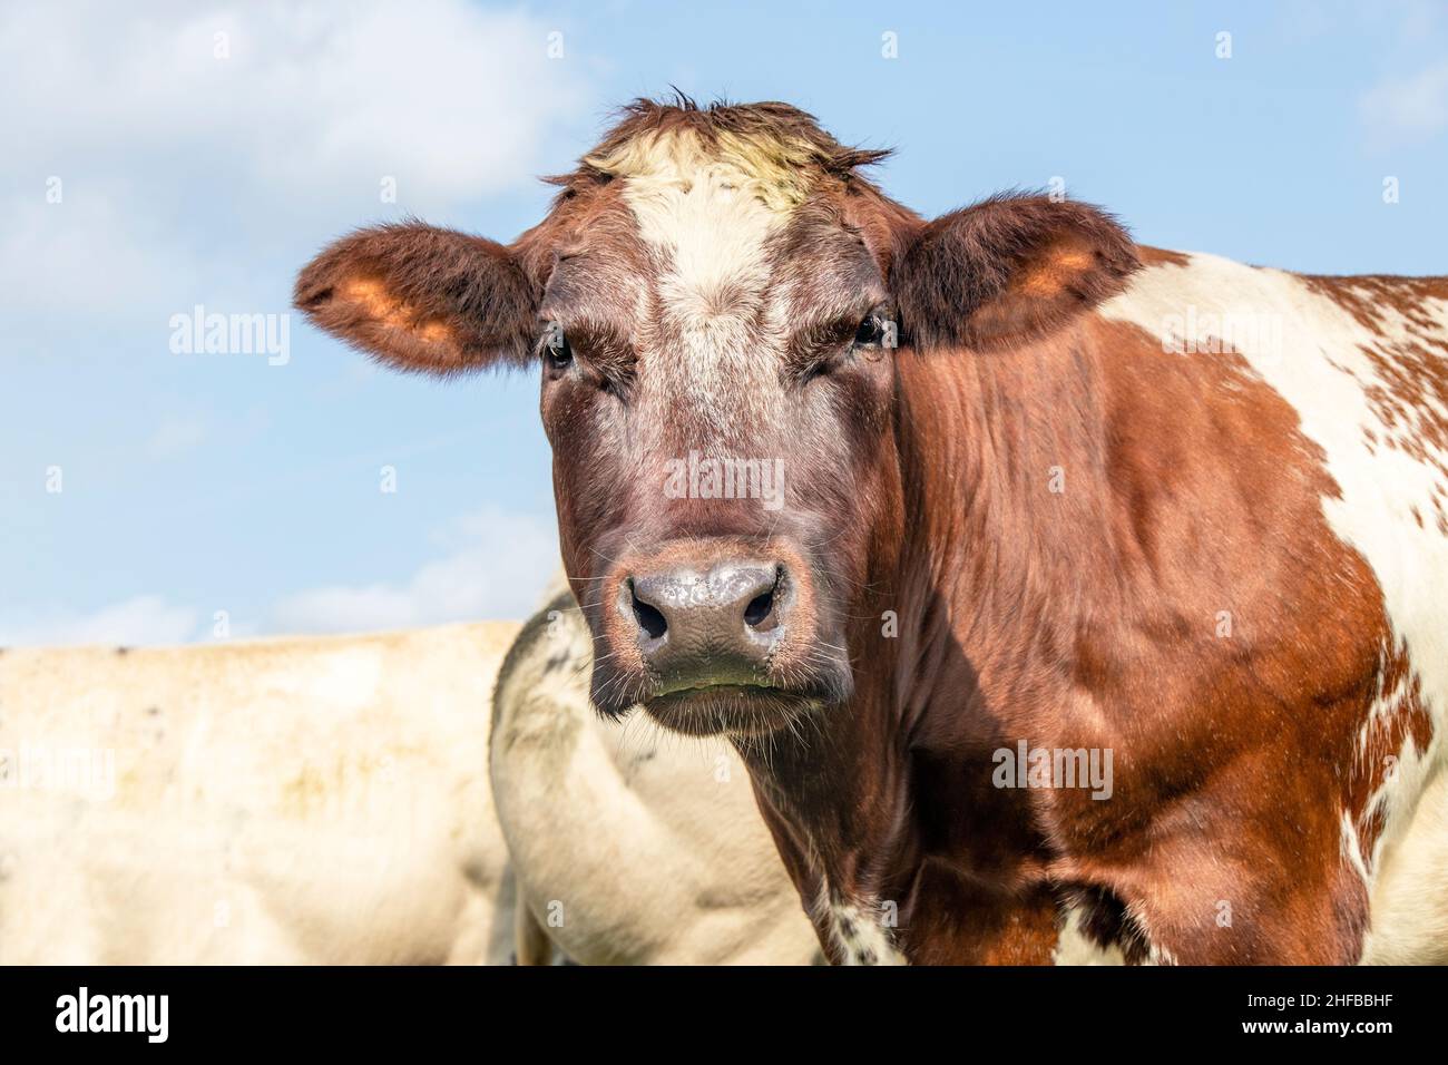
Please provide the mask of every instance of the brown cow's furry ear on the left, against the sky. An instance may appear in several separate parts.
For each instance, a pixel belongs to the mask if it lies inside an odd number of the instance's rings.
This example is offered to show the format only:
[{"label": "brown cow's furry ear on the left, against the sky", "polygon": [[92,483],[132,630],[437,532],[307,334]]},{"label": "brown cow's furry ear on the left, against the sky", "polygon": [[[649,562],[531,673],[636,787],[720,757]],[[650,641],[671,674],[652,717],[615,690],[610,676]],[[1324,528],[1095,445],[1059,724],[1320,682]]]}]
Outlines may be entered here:
[{"label": "brown cow's furry ear on the left, against the sky", "polygon": [[513,252],[420,222],[342,238],[297,275],[292,301],[398,369],[450,375],[531,358],[536,300]]}]

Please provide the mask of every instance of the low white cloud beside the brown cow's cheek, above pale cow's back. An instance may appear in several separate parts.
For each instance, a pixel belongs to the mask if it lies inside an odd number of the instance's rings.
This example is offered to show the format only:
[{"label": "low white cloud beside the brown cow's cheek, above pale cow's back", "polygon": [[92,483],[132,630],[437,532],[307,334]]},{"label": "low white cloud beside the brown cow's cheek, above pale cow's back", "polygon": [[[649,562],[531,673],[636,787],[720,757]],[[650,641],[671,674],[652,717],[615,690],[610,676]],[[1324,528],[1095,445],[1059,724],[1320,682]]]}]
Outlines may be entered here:
[{"label": "low white cloud beside the brown cow's cheek, above pale cow's back", "polygon": [[557,568],[550,522],[484,510],[437,538],[446,554],[403,582],[332,585],[282,598],[277,632],[368,632],[446,622],[523,619]]}]

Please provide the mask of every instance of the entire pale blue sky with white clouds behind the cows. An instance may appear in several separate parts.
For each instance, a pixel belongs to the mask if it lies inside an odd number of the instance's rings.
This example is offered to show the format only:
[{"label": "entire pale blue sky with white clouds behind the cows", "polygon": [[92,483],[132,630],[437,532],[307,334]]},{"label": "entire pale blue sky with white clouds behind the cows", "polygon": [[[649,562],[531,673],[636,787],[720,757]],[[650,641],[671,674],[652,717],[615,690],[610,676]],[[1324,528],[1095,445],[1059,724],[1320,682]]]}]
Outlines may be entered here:
[{"label": "entire pale blue sky with white clouds behind the cows", "polygon": [[1448,272],[1448,6],[721,10],[0,7],[0,643],[521,616],[556,558],[534,375],[398,377],[297,316],[284,365],[178,354],[171,322],[285,314],[366,222],[511,239],[670,84],[896,148],[924,213],[1058,177],[1148,243]]}]

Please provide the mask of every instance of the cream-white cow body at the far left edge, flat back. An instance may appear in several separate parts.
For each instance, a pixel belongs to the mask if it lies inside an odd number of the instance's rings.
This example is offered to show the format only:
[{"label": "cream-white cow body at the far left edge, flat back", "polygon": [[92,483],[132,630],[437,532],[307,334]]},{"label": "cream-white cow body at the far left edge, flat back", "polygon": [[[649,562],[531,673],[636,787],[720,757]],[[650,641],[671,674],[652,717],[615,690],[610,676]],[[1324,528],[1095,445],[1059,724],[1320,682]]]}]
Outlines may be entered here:
[{"label": "cream-white cow body at the far left edge, flat back", "polygon": [[517,630],[0,653],[0,964],[507,962]]}]

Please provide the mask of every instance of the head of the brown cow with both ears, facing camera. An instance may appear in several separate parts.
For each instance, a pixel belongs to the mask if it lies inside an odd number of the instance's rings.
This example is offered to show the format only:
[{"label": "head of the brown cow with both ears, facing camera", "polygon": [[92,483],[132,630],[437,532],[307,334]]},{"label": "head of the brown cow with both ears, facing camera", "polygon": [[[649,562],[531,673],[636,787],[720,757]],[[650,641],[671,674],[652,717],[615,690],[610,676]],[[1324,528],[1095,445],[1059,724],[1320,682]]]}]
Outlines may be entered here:
[{"label": "head of the brown cow with both ears, facing camera", "polygon": [[757,735],[844,703],[905,522],[896,359],[1030,343],[1135,264],[1073,203],[922,222],[860,177],[882,155],[785,104],[640,101],[511,245],[381,226],[297,281],[390,365],[540,368],[607,714]]}]

